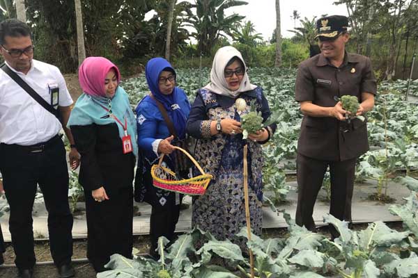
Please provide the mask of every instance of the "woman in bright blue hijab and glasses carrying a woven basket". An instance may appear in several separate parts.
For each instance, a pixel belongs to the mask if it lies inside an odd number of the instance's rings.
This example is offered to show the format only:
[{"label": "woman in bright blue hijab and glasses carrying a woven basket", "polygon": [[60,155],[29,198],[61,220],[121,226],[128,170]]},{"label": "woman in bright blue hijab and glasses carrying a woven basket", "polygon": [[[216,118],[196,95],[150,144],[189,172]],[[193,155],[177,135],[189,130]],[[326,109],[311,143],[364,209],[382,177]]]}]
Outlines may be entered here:
[{"label": "woman in bright blue hijab and glasses carrying a woven basket", "polygon": [[[185,92],[176,87],[176,72],[167,60],[149,60],[145,74],[150,95],[144,97],[136,109],[138,146],[142,152],[138,158],[135,199],[153,206],[150,216],[150,255],[157,257],[155,250],[158,238],[165,236],[169,240],[174,239],[183,196],[155,188],[150,168],[165,154],[166,166],[180,177],[187,177],[189,170],[183,163],[178,163],[181,161],[180,154],[174,151],[173,145],[181,145],[186,138],[185,126],[190,104]],[[164,120],[164,114],[168,116],[168,123]]]}]

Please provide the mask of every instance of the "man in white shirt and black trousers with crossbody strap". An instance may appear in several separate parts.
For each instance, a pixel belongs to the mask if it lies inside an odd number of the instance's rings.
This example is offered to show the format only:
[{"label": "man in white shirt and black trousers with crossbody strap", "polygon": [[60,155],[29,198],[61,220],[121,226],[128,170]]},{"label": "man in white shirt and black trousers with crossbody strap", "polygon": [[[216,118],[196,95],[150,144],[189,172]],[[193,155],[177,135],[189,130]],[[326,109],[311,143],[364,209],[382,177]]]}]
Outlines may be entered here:
[{"label": "man in white shirt and black trousers with crossbody strap", "polygon": [[[0,70],[0,171],[10,206],[9,229],[19,270],[17,277],[33,277],[36,258],[31,212],[37,184],[48,211],[52,259],[60,277],[73,277],[68,167],[59,136],[63,127],[72,145],[70,165],[75,169],[79,154],[66,127],[72,99],[59,69],[33,60],[31,31],[23,22],[8,19],[0,23],[0,54],[6,61]],[[15,72],[47,104],[58,109],[62,124],[4,69]]]}]

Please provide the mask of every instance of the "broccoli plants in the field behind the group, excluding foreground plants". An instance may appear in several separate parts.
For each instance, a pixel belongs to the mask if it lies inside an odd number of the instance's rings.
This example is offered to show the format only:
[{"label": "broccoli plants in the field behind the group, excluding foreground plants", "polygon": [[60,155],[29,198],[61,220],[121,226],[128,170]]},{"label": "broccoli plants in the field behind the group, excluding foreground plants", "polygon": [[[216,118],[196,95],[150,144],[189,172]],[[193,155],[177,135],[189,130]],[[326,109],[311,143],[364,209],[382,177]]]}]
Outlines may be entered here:
[{"label": "broccoli plants in the field behind the group, excluding foreground plants", "polygon": [[[177,70],[178,85],[185,90],[189,100],[194,100],[195,92],[209,81],[210,70]],[[300,131],[302,114],[295,101],[295,70],[274,68],[251,68],[251,83],[260,85],[268,98],[270,109],[278,115],[278,127],[273,140],[263,147],[265,157],[265,187],[277,193],[274,201],[286,197],[284,171],[295,170],[295,152]],[[128,79],[123,88],[130,95],[132,106],[148,94],[145,76]],[[412,81],[409,102],[404,101],[407,81],[382,82],[378,86],[378,96],[373,111],[367,113],[369,143],[371,151],[357,163],[357,181],[375,179],[378,181],[377,197],[384,195],[383,188],[389,179],[397,174],[410,174],[418,170],[418,107],[413,102],[418,97],[418,81]],[[415,101],[418,101],[415,98]],[[279,165],[280,170],[277,170]]]}]

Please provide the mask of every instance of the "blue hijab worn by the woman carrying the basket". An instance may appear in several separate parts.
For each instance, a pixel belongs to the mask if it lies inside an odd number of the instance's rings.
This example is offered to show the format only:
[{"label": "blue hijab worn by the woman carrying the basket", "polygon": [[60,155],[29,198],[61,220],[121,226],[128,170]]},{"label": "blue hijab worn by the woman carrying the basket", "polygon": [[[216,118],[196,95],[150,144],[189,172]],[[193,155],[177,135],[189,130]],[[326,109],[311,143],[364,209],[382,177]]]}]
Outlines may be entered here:
[{"label": "blue hijab worn by the woman carrying the basket", "polygon": [[181,94],[184,94],[184,92],[182,89],[174,87],[173,92],[170,95],[162,94],[158,88],[158,79],[163,71],[173,72],[173,74],[176,75],[173,67],[171,67],[170,63],[164,58],[152,58],[146,63],[145,76],[148,88],[155,99],[160,101],[167,110],[167,113],[171,115],[173,125],[176,126],[178,138],[183,139],[185,137],[187,117],[185,112],[178,108],[179,105],[176,106],[174,104],[180,103]]}]

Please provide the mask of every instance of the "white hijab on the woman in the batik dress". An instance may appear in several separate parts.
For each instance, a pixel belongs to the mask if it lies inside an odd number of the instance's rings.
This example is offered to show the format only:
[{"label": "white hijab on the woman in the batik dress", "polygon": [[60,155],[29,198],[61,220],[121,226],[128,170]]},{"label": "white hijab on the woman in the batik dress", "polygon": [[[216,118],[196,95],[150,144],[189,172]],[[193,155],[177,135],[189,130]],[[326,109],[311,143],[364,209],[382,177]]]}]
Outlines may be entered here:
[{"label": "white hijab on the woman in the batik dress", "polygon": [[[240,88],[236,91],[231,91],[228,88],[228,83],[226,82],[224,76],[224,70],[226,65],[228,64],[229,60],[233,57],[237,56],[242,61],[244,65],[245,74],[242,76],[242,81],[240,84]],[[249,83],[248,75],[247,75],[247,66],[245,65],[244,59],[242,59],[242,55],[240,51],[235,49],[235,47],[221,47],[215,54],[215,58],[213,58],[213,65],[212,70],[210,70],[210,83],[206,85],[205,89],[209,90],[210,92],[215,92],[217,95],[224,95],[226,97],[238,97],[241,92],[246,92],[249,90],[254,90],[257,86],[252,85]]]}]

